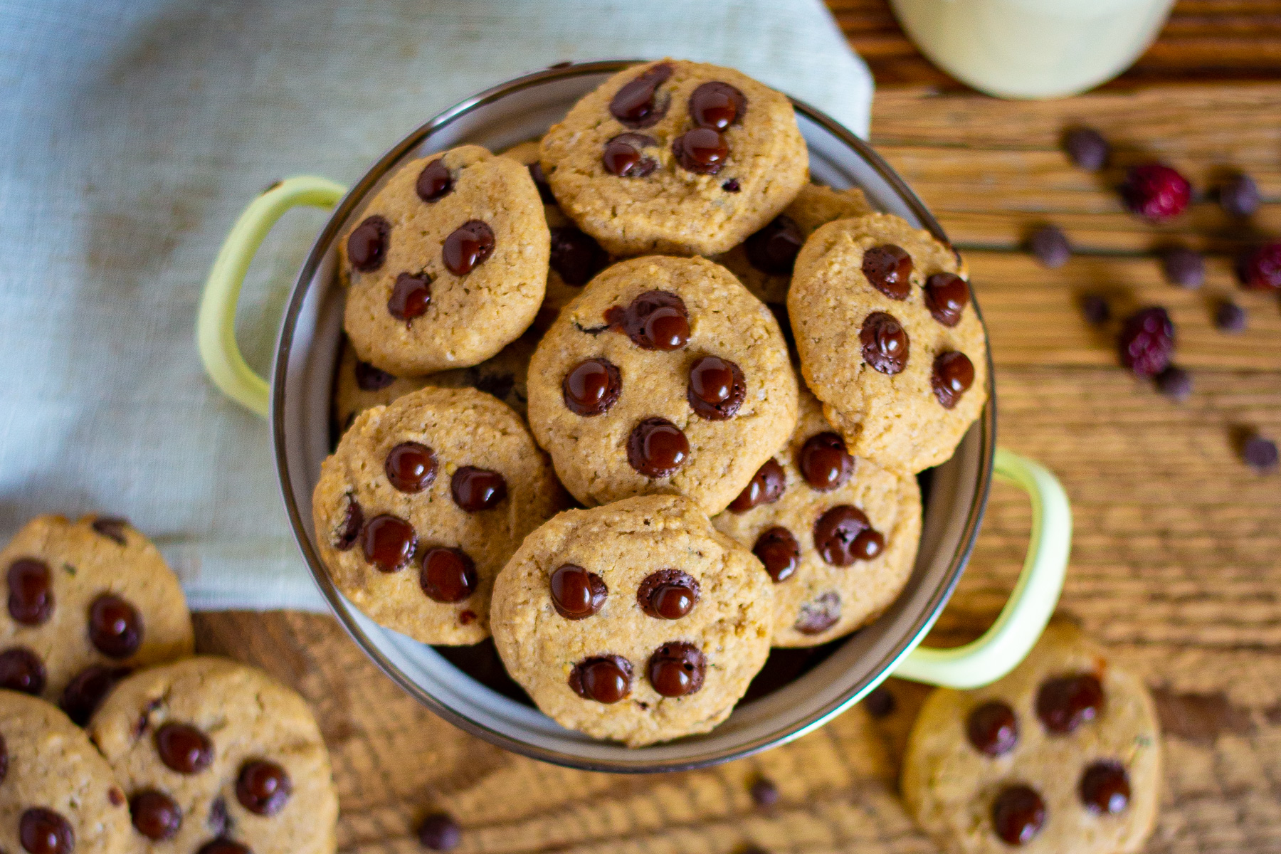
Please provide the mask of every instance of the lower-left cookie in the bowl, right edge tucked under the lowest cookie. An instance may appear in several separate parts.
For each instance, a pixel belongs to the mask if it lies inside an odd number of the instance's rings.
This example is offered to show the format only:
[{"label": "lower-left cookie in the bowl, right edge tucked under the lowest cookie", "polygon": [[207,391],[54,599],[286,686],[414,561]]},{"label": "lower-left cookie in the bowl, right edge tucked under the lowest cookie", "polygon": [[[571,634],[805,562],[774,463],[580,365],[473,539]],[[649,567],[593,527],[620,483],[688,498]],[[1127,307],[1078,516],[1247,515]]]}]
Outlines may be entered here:
[{"label": "lower-left cookie in the bowl, right edge tucked under the lowest cookie", "polygon": [[313,520],[334,584],[371,620],[474,644],[489,635],[494,575],[560,503],[511,407],[429,385],[356,416],[320,467]]}]

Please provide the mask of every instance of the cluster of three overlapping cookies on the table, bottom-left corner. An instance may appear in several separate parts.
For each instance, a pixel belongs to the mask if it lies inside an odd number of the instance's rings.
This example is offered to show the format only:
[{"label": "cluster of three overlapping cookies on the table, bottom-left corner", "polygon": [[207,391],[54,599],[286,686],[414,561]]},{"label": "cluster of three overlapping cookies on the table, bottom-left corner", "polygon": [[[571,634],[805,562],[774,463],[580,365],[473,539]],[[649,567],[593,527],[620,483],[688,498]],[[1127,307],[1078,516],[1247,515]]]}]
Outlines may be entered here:
[{"label": "cluster of three overlapping cookies on the table, bottom-left corner", "polygon": [[256,668],[191,657],[182,588],[146,536],[41,516],[0,567],[0,850],[334,850],[310,709]]}]

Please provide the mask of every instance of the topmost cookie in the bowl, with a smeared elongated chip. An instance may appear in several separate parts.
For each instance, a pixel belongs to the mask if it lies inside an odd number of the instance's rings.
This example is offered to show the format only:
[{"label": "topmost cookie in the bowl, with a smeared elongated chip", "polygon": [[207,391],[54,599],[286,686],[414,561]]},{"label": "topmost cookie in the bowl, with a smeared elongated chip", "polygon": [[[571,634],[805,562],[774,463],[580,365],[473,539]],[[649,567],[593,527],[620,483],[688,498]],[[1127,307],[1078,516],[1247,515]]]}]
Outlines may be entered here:
[{"label": "topmost cookie in the bowl, with a smeared elongated chip", "polygon": [[664,59],[619,72],[542,142],[560,206],[615,255],[715,255],[801,191],[792,102],[730,68]]}]

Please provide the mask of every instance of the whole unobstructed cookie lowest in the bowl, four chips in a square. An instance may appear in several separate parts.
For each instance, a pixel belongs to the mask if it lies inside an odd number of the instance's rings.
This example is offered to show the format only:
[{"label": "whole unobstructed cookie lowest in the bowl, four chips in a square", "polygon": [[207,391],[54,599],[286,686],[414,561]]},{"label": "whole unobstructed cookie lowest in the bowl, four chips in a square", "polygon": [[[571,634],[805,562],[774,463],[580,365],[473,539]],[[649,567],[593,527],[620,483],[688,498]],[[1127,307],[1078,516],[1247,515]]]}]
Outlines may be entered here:
[{"label": "whole unobstructed cookie lowest in the bowl, four chips in a square", "polygon": [[494,643],[557,723],[638,748],[729,716],[769,653],[771,586],[687,498],[570,510],[500,574]]}]

